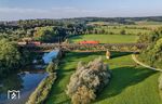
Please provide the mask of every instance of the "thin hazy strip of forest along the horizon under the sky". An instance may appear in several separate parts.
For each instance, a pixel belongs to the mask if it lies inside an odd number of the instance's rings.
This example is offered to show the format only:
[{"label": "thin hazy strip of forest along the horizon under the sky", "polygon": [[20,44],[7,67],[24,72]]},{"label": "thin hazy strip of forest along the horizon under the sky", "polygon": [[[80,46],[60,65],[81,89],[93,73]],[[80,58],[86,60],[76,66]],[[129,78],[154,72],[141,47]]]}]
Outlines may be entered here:
[{"label": "thin hazy strip of forest along the horizon under the sky", "polygon": [[147,16],[147,17],[75,17],[75,18],[62,18],[62,20],[21,20],[11,22],[0,22],[0,25],[4,26],[19,26],[19,27],[38,27],[38,26],[63,26],[67,23],[81,23],[89,22],[110,22],[119,24],[135,24],[138,21],[151,21],[162,22],[162,16]]}]

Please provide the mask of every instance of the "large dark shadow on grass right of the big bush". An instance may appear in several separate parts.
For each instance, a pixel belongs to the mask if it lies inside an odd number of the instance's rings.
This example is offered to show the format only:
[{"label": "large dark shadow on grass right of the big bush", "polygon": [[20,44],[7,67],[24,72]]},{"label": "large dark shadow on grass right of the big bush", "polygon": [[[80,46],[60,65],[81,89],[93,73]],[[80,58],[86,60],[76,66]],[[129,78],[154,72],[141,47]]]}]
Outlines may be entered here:
[{"label": "large dark shadow on grass right of the big bush", "polygon": [[98,94],[96,102],[118,95],[125,88],[137,84],[153,74],[156,74],[153,70],[146,68],[114,68],[112,69],[112,78],[110,83],[100,92],[100,94]]}]

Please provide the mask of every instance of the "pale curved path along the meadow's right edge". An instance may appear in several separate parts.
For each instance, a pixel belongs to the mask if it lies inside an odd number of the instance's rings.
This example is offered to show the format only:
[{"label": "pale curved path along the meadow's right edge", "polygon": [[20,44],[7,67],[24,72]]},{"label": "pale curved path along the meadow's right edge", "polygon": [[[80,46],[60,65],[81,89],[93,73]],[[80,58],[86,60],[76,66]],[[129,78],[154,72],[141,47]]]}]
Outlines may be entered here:
[{"label": "pale curved path along the meadow's right edge", "polygon": [[134,61],[135,63],[137,63],[137,64],[139,64],[139,65],[141,65],[141,66],[144,66],[144,67],[146,67],[146,68],[152,69],[152,70],[157,70],[157,72],[162,72],[162,69],[160,69],[160,68],[154,68],[154,67],[151,67],[151,66],[149,66],[149,65],[146,65],[146,64],[139,62],[139,61],[137,60],[137,57],[135,56],[135,54],[132,54],[132,58],[133,58],[133,61]]}]

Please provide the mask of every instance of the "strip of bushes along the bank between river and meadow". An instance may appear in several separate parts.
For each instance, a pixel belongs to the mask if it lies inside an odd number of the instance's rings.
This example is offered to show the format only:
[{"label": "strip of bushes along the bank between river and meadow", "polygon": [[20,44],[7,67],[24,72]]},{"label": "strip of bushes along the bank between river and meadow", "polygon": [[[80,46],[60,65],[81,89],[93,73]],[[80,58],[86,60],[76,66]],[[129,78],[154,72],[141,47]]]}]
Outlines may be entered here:
[{"label": "strip of bushes along the bank between river and meadow", "polygon": [[56,68],[58,62],[51,62],[48,67],[46,72],[49,73],[48,77],[41,81],[41,83],[37,87],[37,89],[32,92],[29,96],[29,100],[26,104],[44,104],[45,100],[48,99],[52,86],[56,80]]}]

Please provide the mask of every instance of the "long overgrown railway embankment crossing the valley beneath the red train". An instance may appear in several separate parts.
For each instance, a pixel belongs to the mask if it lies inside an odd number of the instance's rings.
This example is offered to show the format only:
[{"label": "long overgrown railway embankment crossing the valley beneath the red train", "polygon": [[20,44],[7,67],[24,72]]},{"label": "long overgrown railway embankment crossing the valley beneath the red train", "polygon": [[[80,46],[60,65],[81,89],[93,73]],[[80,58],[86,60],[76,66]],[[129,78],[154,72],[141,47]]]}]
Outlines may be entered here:
[{"label": "long overgrown railway embankment crossing the valley beneath the red train", "polygon": [[55,49],[63,51],[117,51],[117,52],[140,52],[147,48],[146,43],[103,43],[103,44],[78,44],[78,43],[41,43],[39,46],[19,46],[32,52],[50,52]]}]

